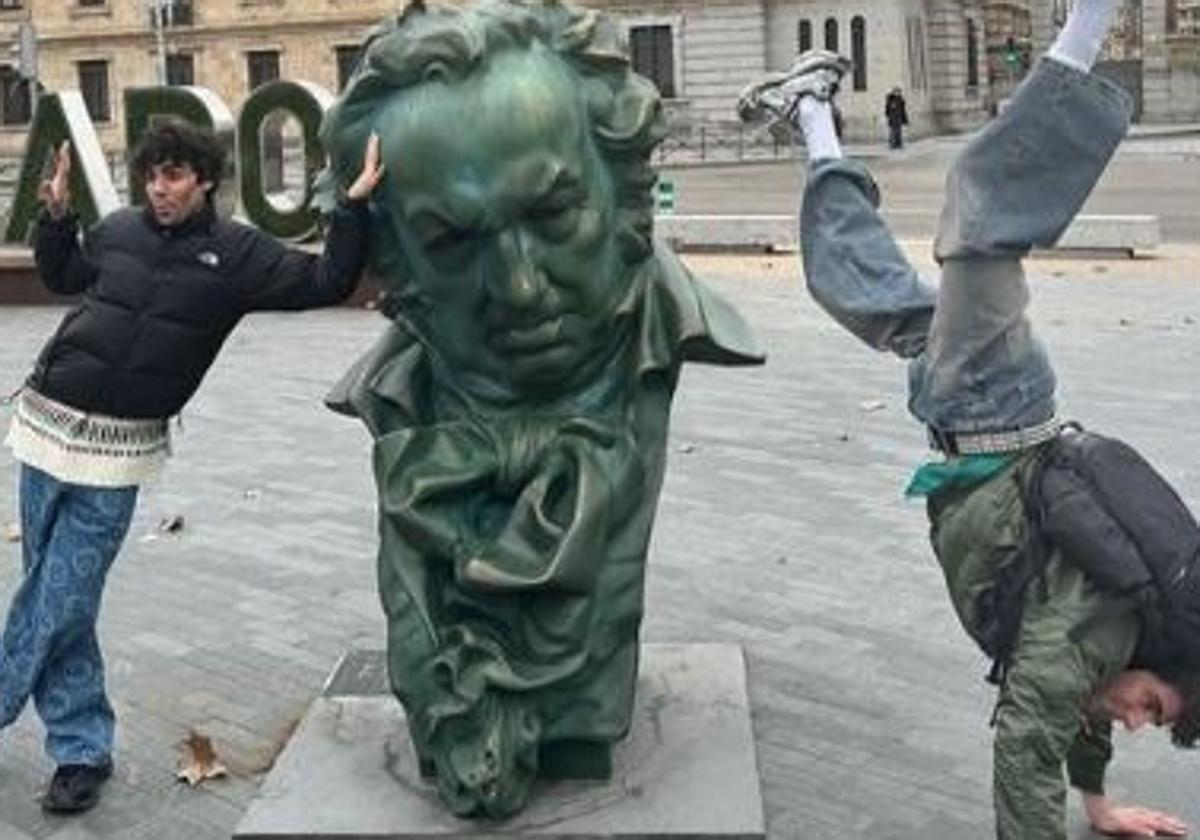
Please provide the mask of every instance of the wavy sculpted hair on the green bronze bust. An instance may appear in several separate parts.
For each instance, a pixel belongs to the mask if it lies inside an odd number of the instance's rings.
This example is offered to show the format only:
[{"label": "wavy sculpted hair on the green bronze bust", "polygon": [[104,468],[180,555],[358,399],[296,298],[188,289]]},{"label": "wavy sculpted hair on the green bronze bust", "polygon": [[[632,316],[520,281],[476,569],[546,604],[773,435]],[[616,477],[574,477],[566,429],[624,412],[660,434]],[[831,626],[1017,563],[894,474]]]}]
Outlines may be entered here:
[{"label": "wavy sculpted hair on the green bronze bust", "polygon": [[[647,257],[656,178],[650,154],[666,133],[659,92],[632,72],[620,28],[594,10],[557,0],[484,0],[470,8],[413,2],[376,26],[322,125],[330,166],[317,181],[318,205],[328,208],[354,179],[383,102],[424,82],[466,78],[490,54],[533,43],[560,56],[577,76],[592,137],[613,175],[622,253],[630,263]],[[388,227],[376,226],[376,235],[388,236]],[[389,251],[398,250],[374,248],[374,269],[383,276],[400,268],[383,264]]]}]

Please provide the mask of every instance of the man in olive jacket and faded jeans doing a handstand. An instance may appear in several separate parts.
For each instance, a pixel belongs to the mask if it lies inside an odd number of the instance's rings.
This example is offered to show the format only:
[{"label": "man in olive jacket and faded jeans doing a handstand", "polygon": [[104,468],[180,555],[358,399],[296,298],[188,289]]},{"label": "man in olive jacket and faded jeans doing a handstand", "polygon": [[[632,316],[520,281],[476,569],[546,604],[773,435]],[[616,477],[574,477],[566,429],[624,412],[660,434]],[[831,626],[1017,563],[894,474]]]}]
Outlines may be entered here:
[{"label": "man in olive jacket and faded jeans doing a handstand", "polygon": [[[810,293],[862,341],[910,360],[910,410],[943,457],[917,470],[908,493],[928,498],[950,600],[985,649],[995,642],[1001,582],[1021,581],[995,674],[994,797],[1003,840],[1064,838],[1064,766],[1097,830],[1186,832],[1169,814],[1112,803],[1104,770],[1112,721],[1172,726],[1181,745],[1196,739],[1200,650],[1160,644],[1176,628],[1147,620],[1138,595],[1105,590],[1060,542],[1031,559],[1031,576],[1008,574],[1043,545],[1043,509],[1031,503],[1031,488],[1044,486],[1040,464],[1076,437],[1056,418],[1054,371],[1025,313],[1021,258],[1057,240],[1128,126],[1128,96],[1090,72],[1112,5],[1075,4],[1049,55],[955,162],[935,244],[936,289],[884,227],[871,175],[842,157],[830,101],[850,62],[805,54],[739,102],[744,119],[784,120],[808,148],[800,239]],[[1183,541],[1195,544],[1194,518],[1181,520]],[[1190,608],[1200,606],[1196,558],[1184,560]]]}]

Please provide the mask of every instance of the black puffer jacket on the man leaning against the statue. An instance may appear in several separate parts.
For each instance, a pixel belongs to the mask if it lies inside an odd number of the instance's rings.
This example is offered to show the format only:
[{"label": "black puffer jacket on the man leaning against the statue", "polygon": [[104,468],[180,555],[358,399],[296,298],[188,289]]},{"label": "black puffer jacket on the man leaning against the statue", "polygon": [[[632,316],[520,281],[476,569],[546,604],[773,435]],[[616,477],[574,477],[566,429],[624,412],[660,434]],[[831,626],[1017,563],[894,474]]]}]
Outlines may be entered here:
[{"label": "black puffer jacket on the man leaning against the statue", "polygon": [[335,210],[320,257],[205,206],[161,227],[142,209],[106,216],[80,248],[73,217],[37,227],[42,282],[80,294],[47,342],[29,385],[83,412],[178,414],[247,312],[344,300],[366,259],[366,202]]}]

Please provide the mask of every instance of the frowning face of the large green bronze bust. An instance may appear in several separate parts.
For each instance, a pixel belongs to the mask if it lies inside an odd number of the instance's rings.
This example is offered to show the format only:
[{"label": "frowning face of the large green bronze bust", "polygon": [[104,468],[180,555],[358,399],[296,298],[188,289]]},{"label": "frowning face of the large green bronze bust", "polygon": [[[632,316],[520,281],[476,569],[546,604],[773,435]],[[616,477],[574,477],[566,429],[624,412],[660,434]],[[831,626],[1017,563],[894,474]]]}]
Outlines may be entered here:
[{"label": "frowning face of the large green bronze bust", "polygon": [[458,386],[548,397],[595,376],[629,288],[578,80],[545,49],[407,91],[380,114],[406,310]]}]

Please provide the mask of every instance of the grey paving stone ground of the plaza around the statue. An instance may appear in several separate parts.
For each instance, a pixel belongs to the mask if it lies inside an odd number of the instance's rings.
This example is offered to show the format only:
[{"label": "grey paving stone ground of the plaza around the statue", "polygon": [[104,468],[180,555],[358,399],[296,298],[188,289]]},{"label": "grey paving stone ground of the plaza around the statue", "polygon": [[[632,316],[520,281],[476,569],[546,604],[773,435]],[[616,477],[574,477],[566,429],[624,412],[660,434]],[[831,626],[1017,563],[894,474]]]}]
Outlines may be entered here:
[{"label": "grey paving stone ground of the plaza around the statue", "polygon": [[[926,269],[928,245],[913,250]],[[794,254],[694,257],[769,354],[690,367],[674,408],[643,637],[734,642],[749,670],[774,840],[989,836],[992,691],[955,624],[919,503],[926,456],[904,368],[803,294]],[[1034,316],[1062,408],[1141,448],[1200,506],[1200,248],[1138,260],[1037,259]],[[931,270],[931,269],[930,269]],[[61,314],[0,308],[0,389]],[[382,647],[367,434],[320,404],[383,326],[365,310],[246,320],[144,490],[101,622],[116,772],[76,820],[43,817],[32,710],[0,734],[0,840],[224,840],[348,649]],[[8,409],[0,409],[7,424]],[[16,516],[0,458],[0,528]],[[162,533],[161,521],[184,527]],[[0,541],[0,601],[19,578]],[[229,769],[175,781],[190,731]],[[1196,756],[1117,738],[1110,793],[1200,823]],[[1072,803],[1073,836],[1086,836]]]}]

